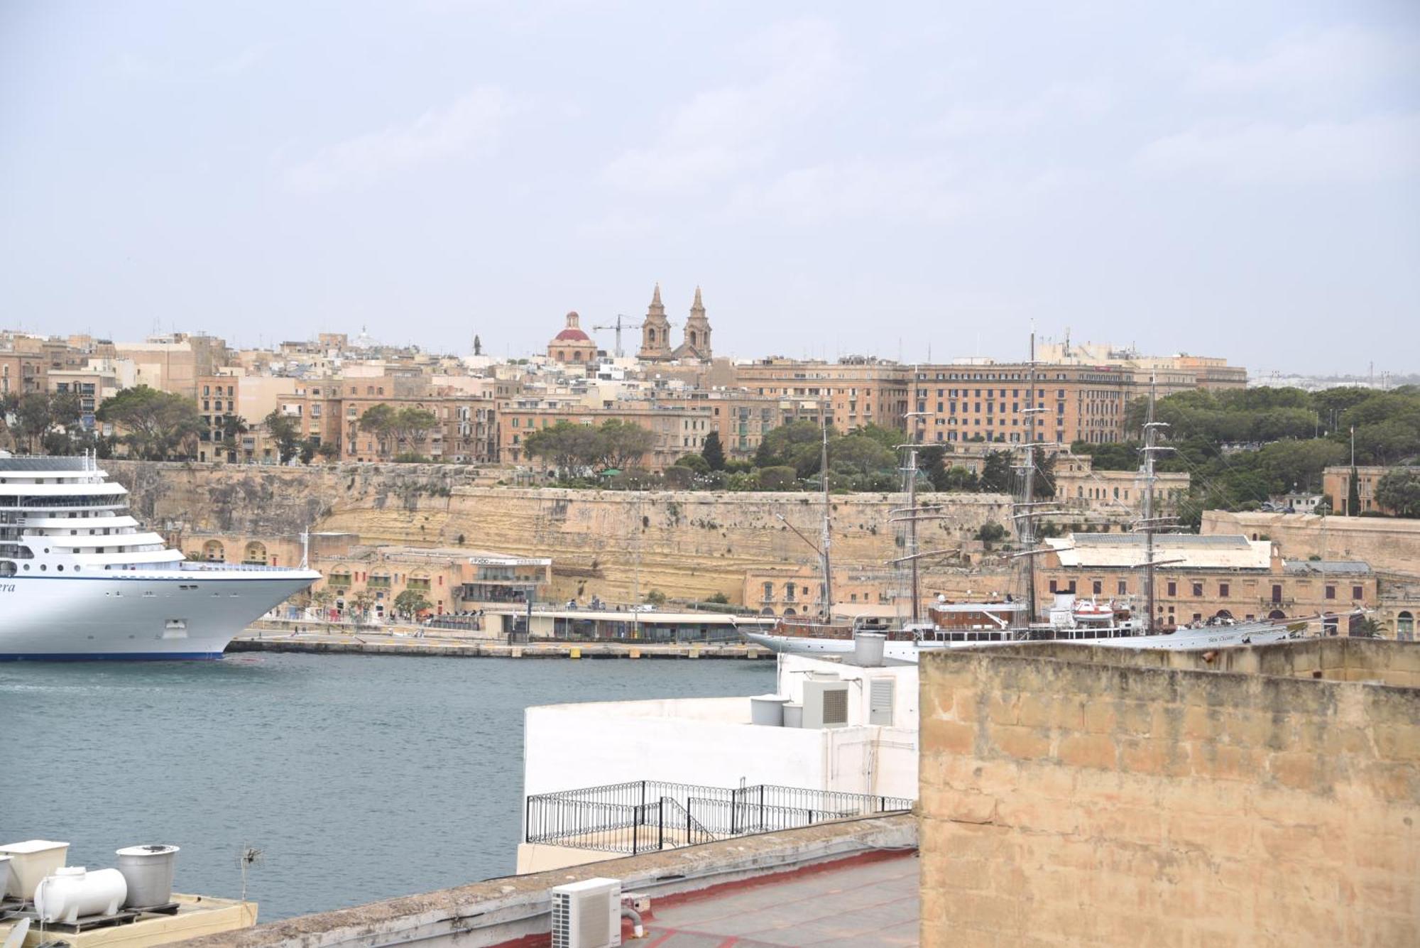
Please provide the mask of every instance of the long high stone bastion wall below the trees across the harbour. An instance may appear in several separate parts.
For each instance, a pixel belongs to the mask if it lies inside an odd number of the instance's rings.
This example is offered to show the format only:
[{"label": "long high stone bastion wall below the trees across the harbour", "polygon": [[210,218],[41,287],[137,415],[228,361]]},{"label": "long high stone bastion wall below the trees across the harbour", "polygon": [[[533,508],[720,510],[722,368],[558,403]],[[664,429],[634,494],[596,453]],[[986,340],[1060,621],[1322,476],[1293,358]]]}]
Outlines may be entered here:
[{"label": "long high stone bastion wall below the trees across the harbour", "polygon": [[[744,573],[814,562],[784,521],[818,542],[814,494],[577,491],[474,485],[471,468],[440,464],[250,467],[105,461],[155,529],[244,538],[291,536],[302,525],[365,544],[466,546],[551,556],[559,575],[630,599],[743,596]],[[900,494],[835,495],[836,563],[880,566],[900,556],[889,511]],[[960,546],[985,522],[1010,527],[1008,498],[956,494],[943,519],[920,527],[923,549]],[[187,542],[187,546],[192,544]]]}]

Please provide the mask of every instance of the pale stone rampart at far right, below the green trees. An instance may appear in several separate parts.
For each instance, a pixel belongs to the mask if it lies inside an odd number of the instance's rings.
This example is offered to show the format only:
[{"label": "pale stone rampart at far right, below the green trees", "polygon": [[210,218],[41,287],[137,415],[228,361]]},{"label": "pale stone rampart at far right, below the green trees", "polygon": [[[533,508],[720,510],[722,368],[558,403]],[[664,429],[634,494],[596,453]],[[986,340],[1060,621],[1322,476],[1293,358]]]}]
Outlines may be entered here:
[{"label": "pale stone rampart at far right, below the green trees", "polygon": [[1267,538],[1288,559],[1362,559],[1377,572],[1420,575],[1420,519],[1206,511],[1200,532]]}]

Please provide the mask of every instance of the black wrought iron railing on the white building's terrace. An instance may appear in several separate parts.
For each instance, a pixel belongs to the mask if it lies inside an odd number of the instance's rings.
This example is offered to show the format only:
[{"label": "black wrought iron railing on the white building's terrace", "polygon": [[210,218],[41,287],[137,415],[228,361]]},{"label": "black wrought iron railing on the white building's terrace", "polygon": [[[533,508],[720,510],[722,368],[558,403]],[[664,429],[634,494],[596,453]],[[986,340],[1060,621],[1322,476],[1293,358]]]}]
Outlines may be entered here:
[{"label": "black wrought iron railing on the white building's terrace", "polygon": [[720,788],[629,781],[527,799],[524,840],[611,853],[648,853],[828,820],[910,810],[899,796],[757,783]]}]

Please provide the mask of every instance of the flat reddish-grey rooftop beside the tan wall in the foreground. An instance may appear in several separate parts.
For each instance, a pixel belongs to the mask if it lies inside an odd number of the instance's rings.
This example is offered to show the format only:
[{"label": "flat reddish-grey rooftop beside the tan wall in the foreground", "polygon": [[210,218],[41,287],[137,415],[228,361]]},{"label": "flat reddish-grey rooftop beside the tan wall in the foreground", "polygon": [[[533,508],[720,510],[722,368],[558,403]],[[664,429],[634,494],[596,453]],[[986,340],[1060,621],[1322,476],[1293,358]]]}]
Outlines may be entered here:
[{"label": "flat reddish-grey rooftop beside the tan wall in the foreground", "polygon": [[913,851],[811,866],[699,897],[652,897],[655,917],[646,924],[646,944],[916,945],[919,870]]}]

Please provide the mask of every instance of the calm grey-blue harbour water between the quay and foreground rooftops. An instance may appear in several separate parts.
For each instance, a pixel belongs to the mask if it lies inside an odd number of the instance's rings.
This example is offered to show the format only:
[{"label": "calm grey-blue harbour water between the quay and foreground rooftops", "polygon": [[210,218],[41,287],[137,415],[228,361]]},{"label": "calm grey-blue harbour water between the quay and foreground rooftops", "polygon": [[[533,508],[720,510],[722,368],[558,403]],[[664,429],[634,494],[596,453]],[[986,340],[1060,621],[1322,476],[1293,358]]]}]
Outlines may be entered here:
[{"label": "calm grey-blue harbour water between the quay and foreground rooftops", "polygon": [[530,704],[763,694],[765,661],[236,654],[0,664],[0,842],[173,843],[271,921],[511,874]]}]

